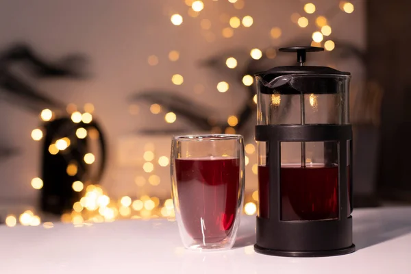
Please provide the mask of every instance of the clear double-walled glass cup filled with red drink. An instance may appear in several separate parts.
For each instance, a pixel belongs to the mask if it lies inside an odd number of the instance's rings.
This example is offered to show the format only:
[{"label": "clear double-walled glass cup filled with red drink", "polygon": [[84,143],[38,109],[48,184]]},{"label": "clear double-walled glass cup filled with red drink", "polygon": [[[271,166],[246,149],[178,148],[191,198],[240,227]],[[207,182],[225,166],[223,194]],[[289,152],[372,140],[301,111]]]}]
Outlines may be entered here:
[{"label": "clear double-walled glass cup filled with red drink", "polygon": [[240,223],[244,178],[242,136],[173,138],[172,195],[184,247],[204,251],[232,248]]}]

